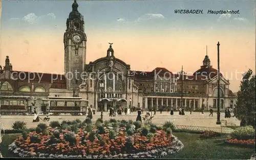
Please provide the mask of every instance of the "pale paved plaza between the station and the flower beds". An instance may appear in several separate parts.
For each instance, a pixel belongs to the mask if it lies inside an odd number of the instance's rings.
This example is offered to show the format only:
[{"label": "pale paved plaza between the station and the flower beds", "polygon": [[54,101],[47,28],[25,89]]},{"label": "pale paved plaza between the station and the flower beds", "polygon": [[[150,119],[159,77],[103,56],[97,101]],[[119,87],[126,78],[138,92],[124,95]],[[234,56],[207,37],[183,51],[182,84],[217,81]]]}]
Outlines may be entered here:
[{"label": "pale paved plaza between the station and the flower beds", "polygon": [[[145,111],[142,115],[144,117]],[[40,115],[40,118],[44,118],[45,115]],[[64,121],[64,120],[75,120],[79,119],[81,121],[86,119],[86,116],[49,116],[50,121]],[[137,112],[133,112],[130,115],[121,115],[121,116],[116,116],[112,117],[117,120],[133,120],[135,121],[137,117]],[[96,115],[93,115],[93,121],[96,121],[98,118],[100,118],[100,112],[96,112]],[[5,129],[11,129],[12,124],[15,121],[24,121],[27,123],[27,127],[36,127],[37,124],[39,123],[46,123],[49,124],[49,122],[35,122],[32,123],[33,116],[5,116],[2,115],[2,123],[4,124]],[[108,112],[103,112],[103,120],[109,120],[109,113]],[[221,113],[221,120],[226,120],[229,125],[240,125],[240,121],[234,117],[231,118],[224,118],[224,113]],[[161,125],[165,121],[172,121],[175,125],[184,125],[184,126],[201,126],[201,127],[220,127],[220,125],[216,125],[217,121],[217,113],[213,113],[213,117],[209,117],[209,112],[204,112],[202,114],[201,112],[192,112],[190,115],[190,112],[185,112],[184,116],[178,115],[178,112],[174,112],[174,115],[169,115],[169,112],[164,111],[162,114],[160,112],[157,112],[156,115],[154,116],[152,123]]]}]

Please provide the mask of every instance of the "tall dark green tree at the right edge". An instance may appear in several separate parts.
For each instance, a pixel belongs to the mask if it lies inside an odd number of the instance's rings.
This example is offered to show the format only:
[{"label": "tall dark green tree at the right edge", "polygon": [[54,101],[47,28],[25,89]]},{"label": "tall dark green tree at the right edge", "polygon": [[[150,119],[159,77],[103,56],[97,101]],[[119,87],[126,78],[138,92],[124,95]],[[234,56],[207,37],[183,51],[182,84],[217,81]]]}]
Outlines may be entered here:
[{"label": "tall dark green tree at the right edge", "polygon": [[241,121],[241,126],[255,128],[255,75],[249,69],[244,75],[234,105],[234,115]]}]

